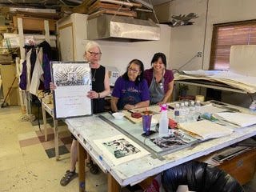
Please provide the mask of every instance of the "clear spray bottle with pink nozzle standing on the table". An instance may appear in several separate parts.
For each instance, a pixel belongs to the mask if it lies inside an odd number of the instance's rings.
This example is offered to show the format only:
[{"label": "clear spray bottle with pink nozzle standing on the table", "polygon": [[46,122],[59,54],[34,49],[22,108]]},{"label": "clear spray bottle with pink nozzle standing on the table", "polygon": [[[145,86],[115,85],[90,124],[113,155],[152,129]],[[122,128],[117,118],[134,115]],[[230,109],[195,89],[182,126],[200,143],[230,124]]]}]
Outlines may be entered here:
[{"label": "clear spray bottle with pink nozzle standing on the table", "polygon": [[168,125],[169,125],[169,119],[167,117],[167,106],[166,104],[163,104],[161,106],[161,118],[159,120],[159,130],[158,130],[159,137],[166,137],[169,135]]}]

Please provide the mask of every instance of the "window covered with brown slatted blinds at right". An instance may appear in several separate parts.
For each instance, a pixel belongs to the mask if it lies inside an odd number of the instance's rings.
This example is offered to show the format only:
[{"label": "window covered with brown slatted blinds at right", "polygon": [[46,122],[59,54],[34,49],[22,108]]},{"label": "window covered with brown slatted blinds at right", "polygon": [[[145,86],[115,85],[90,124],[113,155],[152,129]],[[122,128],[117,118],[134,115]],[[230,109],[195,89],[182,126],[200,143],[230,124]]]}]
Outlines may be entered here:
[{"label": "window covered with brown slatted blinds at right", "polygon": [[230,47],[235,45],[256,45],[256,20],[214,25],[210,70],[228,70]]}]

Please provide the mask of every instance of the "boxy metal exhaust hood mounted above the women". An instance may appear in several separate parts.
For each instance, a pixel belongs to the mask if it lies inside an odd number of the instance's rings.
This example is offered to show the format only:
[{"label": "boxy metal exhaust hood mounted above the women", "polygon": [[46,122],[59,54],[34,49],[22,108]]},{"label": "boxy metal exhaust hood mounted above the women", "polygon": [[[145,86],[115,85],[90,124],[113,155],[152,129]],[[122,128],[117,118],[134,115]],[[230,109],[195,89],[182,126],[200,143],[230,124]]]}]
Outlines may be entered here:
[{"label": "boxy metal exhaust hood mounted above the women", "polygon": [[87,20],[88,39],[152,41],[160,39],[160,27],[151,20],[102,14]]}]

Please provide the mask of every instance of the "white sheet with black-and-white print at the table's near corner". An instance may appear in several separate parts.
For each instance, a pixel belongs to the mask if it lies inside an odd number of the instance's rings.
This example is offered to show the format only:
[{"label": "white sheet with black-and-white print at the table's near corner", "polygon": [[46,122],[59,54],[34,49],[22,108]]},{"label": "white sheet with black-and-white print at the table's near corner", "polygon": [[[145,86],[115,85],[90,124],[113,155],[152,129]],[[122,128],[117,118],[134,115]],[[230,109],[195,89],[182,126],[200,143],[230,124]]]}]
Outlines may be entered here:
[{"label": "white sheet with black-and-white print at the table's near corner", "polygon": [[114,165],[150,154],[142,146],[122,134],[110,138],[97,139],[94,140],[94,143],[102,150],[102,157],[109,158]]}]

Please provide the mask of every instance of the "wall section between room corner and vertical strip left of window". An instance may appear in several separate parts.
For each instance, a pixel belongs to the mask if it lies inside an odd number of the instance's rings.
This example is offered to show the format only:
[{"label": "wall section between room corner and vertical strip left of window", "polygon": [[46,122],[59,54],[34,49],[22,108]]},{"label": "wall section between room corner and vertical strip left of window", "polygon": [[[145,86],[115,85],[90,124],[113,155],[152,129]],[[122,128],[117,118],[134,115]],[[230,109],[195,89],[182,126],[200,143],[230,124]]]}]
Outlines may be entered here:
[{"label": "wall section between room corner and vertical strip left of window", "polygon": [[170,62],[173,68],[180,68],[191,61],[182,70],[202,68],[202,58],[194,57],[203,50],[203,38],[206,23],[206,0],[176,0],[170,2],[170,14],[198,14],[192,26],[177,26],[171,28]]}]

